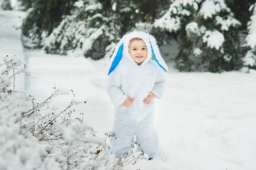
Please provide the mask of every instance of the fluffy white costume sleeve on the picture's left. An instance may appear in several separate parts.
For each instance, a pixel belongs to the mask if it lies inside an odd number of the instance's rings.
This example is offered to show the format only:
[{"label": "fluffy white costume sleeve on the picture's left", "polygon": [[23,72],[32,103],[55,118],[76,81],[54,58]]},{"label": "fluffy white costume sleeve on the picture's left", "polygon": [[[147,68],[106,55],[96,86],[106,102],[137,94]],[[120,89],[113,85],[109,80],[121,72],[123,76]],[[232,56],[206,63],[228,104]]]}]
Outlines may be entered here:
[{"label": "fluffy white costume sleeve on the picture's left", "polygon": [[108,96],[112,101],[113,105],[116,107],[124,103],[126,98],[128,97],[121,90],[121,76],[117,74],[117,72],[112,72],[107,79],[106,89],[108,92]]}]

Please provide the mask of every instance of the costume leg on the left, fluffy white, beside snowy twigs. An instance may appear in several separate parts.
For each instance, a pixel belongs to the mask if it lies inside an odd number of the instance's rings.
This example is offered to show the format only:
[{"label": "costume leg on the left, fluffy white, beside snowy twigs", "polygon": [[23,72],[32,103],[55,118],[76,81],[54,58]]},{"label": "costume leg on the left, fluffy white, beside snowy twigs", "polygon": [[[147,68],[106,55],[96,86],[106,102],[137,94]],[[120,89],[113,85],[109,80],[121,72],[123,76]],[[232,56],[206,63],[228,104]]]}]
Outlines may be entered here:
[{"label": "costume leg on the left, fluffy white, beside snowy twigs", "polygon": [[117,158],[121,158],[122,154],[124,158],[129,157],[133,154],[132,145],[134,144],[135,136],[135,125],[134,121],[129,118],[129,116],[118,116],[116,114],[113,131],[115,137],[110,143],[110,149]]}]

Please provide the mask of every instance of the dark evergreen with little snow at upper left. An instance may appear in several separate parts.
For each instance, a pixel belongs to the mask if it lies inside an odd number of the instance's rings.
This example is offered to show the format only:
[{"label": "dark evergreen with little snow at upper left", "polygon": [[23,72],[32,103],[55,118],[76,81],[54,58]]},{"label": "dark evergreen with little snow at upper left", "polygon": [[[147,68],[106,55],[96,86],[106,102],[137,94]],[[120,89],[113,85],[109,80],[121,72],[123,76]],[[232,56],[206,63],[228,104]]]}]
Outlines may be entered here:
[{"label": "dark evergreen with little snow at upper left", "polygon": [[[70,7],[76,0],[31,0],[27,7],[28,15],[22,23],[22,33],[36,44],[52,33],[62,19],[70,13]],[[26,2],[25,0],[23,2]],[[30,4],[31,3],[31,4]]]}]

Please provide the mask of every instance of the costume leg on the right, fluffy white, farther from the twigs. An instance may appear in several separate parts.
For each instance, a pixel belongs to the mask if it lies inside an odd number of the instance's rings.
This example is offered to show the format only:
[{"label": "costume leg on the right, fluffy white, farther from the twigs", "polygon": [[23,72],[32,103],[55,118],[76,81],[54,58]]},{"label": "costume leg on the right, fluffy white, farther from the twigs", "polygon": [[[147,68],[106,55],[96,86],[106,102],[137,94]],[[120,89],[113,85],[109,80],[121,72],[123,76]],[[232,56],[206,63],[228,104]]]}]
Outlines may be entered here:
[{"label": "costume leg on the right, fluffy white, farther from the twigs", "polygon": [[159,149],[157,132],[154,129],[154,113],[150,112],[145,118],[138,122],[136,141],[139,149],[153,158]]}]

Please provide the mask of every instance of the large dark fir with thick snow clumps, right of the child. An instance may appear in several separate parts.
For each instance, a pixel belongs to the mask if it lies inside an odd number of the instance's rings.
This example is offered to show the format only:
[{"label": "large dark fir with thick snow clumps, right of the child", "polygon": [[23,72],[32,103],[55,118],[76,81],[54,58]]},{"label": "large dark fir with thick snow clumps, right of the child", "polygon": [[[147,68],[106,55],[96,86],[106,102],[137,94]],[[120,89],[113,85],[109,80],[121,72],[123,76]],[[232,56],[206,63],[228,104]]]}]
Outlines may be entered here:
[{"label": "large dark fir with thick snow clumps, right of the child", "polygon": [[240,22],[224,0],[171,0],[154,25],[177,34],[175,63],[180,71],[200,63],[210,72],[236,69]]}]

